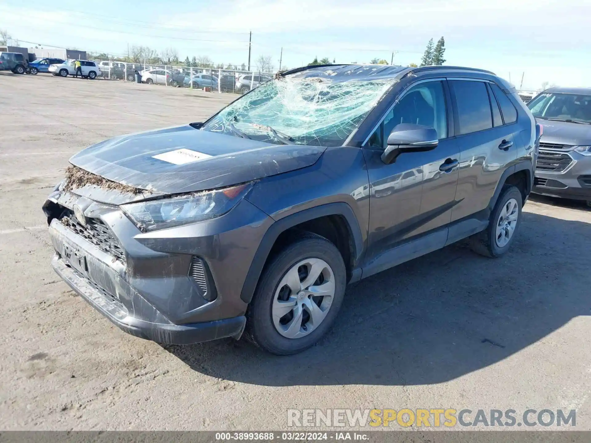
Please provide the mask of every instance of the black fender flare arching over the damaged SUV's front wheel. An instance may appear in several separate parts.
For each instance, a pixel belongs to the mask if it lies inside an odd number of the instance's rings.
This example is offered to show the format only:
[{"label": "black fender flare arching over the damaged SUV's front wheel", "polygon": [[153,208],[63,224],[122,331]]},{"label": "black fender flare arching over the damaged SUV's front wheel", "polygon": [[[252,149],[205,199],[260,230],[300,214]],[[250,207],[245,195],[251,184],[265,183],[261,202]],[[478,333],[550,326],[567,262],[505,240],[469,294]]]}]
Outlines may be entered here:
[{"label": "black fender flare arching over the damaged SUV's front wheel", "polygon": [[[327,203],[320,206],[315,206],[310,209],[306,209],[295,214],[283,217],[277,222],[271,224],[262,237],[261,243],[259,243],[258,249],[256,249],[255,256],[252,259],[251,267],[248,269],[244,284],[242,285],[242,292],[240,298],[245,303],[250,303],[255,293],[256,285],[258,284],[259,278],[262,273],[262,268],[267,262],[271,248],[275,244],[275,240],[280,236],[282,232],[296,226],[297,224],[308,222],[309,220],[317,219],[324,216],[342,216],[345,218],[349,233],[353,239],[353,257],[354,262],[359,263],[361,255],[363,253],[363,237],[361,234],[361,228],[355,213],[351,207],[344,202]],[[359,273],[359,275],[357,275]],[[352,281],[361,278],[361,269],[359,272],[353,270]]]}]

